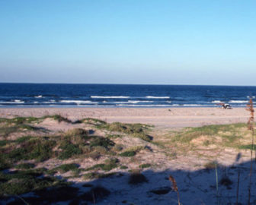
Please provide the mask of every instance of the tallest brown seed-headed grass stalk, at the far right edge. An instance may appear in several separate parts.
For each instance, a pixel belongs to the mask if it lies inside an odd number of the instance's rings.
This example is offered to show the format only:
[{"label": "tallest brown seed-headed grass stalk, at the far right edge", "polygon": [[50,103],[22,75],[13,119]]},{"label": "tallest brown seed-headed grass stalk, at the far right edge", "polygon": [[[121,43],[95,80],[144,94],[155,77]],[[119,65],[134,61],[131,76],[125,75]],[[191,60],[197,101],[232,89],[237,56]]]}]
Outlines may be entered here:
[{"label": "tallest brown seed-headed grass stalk, at the far right edge", "polygon": [[249,175],[249,185],[248,185],[248,205],[251,204],[251,175],[252,175],[252,152],[255,150],[254,147],[254,108],[252,99],[249,100],[247,105],[247,109],[250,112],[250,118],[248,120],[248,129],[251,131],[251,168],[250,168],[250,175]]}]

